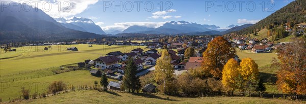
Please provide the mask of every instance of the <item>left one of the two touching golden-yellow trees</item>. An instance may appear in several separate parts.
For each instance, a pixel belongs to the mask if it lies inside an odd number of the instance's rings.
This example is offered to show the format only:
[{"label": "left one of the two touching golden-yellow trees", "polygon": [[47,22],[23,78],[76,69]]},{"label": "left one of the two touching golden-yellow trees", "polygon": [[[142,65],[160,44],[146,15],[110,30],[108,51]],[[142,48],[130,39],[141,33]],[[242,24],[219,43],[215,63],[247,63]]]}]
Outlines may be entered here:
[{"label": "left one of the two touching golden-yellow trees", "polygon": [[226,62],[222,71],[222,84],[225,89],[227,89],[227,93],[230,92],[233,95],[234,90],[236,89],[237,78],[239,75],[239,65],[238,62],[232,58]]}]

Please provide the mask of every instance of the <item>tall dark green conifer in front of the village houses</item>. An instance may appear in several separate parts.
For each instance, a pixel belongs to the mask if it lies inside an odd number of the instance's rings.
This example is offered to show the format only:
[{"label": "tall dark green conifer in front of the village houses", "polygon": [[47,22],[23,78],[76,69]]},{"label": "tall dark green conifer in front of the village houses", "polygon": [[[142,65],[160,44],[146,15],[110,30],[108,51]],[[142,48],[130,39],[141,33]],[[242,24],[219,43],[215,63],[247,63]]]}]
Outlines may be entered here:
[{"label": "tall dark green conifer in front of the village houses", "polygon": [[137,73],[137,66],[132,57],[129,57],[126,61],[126,67],[124,70],[124,77],[123,77],[123,86],[129,92],[138,92],[141,88],[139,77],[136,77]]}]

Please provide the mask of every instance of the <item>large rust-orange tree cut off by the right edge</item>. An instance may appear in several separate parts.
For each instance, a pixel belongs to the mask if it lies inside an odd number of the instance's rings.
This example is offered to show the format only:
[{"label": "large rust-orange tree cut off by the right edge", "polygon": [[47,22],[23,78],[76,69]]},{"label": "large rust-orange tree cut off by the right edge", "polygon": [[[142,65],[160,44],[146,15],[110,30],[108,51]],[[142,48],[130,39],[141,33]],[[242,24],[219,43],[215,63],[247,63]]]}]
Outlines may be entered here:
[{"label": "large rust-orange tree cut off by the right edge", "polygon": [[297,98],[299,94],[306,94],[306,44],[302,39],[294,39],[287,44],[278,54],[278,59],[273,60],[273,65],[278,67],[278,89]]}]

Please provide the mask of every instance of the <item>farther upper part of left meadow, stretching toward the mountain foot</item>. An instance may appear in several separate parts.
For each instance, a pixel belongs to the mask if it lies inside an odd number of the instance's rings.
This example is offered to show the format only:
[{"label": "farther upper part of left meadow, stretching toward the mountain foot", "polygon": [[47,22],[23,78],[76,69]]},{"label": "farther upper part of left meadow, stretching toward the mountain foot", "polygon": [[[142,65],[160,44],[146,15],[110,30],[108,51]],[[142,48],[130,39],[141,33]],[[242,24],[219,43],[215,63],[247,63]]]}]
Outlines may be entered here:
[{"label": "farther upper part of left meadow, stretching toward the mountain foot", "polygon": [[[79,51],[67,51],[67,47],[77,47]],[[0,53],[0,75],[16,74],[41,68],[58,67],[60,65],[84,62],[86,59],[96,59],[109,52],[130,52],[135,48],[145,46],[108,46],[108,45],[56,45],[52,49],[43,50],[44,46],[28,46],[15,48],[16,52]],[[14,49],[14,48],[13,48]],[[9,58],[11,57],[11,58]],[[6,59],[3,59],[6,58]]]}]

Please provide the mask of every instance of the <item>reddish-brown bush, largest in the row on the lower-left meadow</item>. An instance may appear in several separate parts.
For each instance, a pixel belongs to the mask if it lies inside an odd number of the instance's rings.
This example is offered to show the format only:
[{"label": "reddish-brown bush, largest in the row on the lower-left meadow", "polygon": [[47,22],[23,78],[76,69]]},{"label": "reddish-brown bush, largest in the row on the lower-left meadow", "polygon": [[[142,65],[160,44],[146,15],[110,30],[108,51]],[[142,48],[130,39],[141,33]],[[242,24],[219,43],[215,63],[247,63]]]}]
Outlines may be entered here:
[{"label": "reddish-brown bush, largest in the row on the lower-left meadow", "polygon": [[66,89],[67,86],[63,81],[55,81],[49,85],[48,92],[55,95],[57,92],[64,91]]}]

